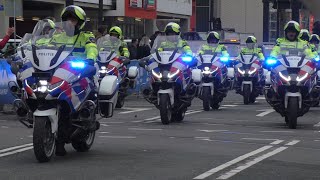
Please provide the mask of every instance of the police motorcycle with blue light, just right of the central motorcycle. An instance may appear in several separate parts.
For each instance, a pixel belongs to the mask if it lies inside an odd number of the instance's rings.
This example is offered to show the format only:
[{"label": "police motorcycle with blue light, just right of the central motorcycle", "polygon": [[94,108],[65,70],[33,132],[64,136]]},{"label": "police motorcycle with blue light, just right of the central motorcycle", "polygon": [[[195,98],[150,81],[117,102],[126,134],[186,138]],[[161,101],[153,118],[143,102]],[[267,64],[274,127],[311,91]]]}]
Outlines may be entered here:
[{"label": "police motorcycle with blue light, just right of the central motorcycle", "polygon": [[[213,49],[217,48],[211,46]],[[231,80],[227,69],[229,57],[209,50],[204,54],[197,54],[196,59],[198,68],[192,70],[192,80],[198,85],[197,96],[202,100],[205,111],[209,111],[210,107],[219,109],[230,88]]]}]

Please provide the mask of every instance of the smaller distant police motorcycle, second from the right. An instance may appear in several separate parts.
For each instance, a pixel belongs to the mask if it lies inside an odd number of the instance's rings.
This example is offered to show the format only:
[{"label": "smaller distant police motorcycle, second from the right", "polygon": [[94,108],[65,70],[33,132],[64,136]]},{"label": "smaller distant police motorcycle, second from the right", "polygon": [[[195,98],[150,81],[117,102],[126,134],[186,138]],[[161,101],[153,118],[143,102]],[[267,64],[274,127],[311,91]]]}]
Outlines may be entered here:
[{"label": "smaller distant police motorcycle, second from the right", "polygon": [[263,94],[265,82],[264,70],[256,54],[246,55],[240,53],[235,62],[234,89],[243,96],[243,103],[250,104]]}]

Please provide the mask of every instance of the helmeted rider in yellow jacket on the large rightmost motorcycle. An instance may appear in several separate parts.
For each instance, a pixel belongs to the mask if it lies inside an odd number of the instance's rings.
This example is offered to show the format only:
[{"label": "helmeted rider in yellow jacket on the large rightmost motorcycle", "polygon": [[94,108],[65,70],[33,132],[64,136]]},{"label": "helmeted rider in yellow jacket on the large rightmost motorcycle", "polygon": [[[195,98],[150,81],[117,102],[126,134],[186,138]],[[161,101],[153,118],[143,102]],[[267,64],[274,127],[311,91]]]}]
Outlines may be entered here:
[{"label": "helmeted rider in yellow jacket on the large rightmost motorcycle", "polygon": [[285,25],[284,31],[285,37],[277,39],[277,44],[272,49],[270,57],[277,58],[279,54],[284,53],[281,51],[281,48],[286,47],[295,49],[305,49],[304,53],[308,58],[315,58],[314,53],[308,46],[308,42],[298,38],[301,31],[299,23],[297,23],[296,21],[289,21]]}]

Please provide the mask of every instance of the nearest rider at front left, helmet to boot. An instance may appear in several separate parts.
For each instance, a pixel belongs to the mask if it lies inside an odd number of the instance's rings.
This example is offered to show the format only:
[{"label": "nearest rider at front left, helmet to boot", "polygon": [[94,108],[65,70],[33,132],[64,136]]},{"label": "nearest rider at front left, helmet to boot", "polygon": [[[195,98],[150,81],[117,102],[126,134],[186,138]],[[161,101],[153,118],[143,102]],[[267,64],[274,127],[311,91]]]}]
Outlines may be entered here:
[{"label": "nearest rider at front left, helmet to boot", "polygon": [[[67,21],[66,25],[64,25],[65,27],[63,27],[65,32],[54,35],[50,44],[74,47],[72,55],[85,59],[87,64],[85,72],[88,77],[93,77],[96,74],[94,62],[98,56],[98,50],[93,33],[83,31],[86,23],[85,11],[79,6],[67,6],[62,10],[61,19],[62,21]],[[71,31],[69,32],[68,30]],[[56,143],[57,156],[66,155],[64,148],[65,137],[68,136],[68,127],[70,126],[71,122],[59,121],[59,133]]]}]

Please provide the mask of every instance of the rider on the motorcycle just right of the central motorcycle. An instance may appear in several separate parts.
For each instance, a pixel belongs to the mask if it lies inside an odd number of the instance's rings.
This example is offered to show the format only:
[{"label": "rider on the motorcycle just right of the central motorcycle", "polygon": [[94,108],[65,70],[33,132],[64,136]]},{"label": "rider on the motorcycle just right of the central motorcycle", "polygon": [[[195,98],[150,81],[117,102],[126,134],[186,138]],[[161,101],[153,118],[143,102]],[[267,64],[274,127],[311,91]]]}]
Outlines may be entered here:
[{"label": "rider on the motorcycle just right of the central motorcycle", "polygon": [[199,54],[209,53],[221,53],[223,56],[229,56],[227,48],[223,44],[219,44],[220,35],[215,31],[211,31],[207,36],[207,43],[202,45]]}]

